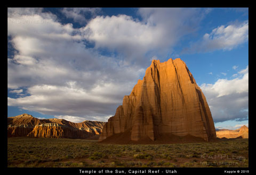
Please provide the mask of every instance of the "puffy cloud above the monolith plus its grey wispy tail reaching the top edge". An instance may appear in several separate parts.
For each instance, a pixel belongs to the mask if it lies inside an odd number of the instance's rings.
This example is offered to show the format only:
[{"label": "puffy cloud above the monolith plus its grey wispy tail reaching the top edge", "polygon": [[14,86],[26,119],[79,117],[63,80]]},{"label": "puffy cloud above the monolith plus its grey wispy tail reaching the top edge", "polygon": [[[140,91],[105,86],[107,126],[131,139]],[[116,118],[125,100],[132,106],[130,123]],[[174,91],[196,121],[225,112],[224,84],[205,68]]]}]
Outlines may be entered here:
[{"label": "puffy cloud above the monolith plus its grey wispy tail reaching the top edge", "polygon": [[[172,52],[179,39],[197,30],[204,11],[194,8],[141,8],[142,21],[131,16],[97,16],[82,32],[96,48],[145,65],[154,55]],[[193,18],[190,18],[193,16]],[[111,42],[109,42],[111,41]],[[147,56],[147,57],[146,57]]]}]

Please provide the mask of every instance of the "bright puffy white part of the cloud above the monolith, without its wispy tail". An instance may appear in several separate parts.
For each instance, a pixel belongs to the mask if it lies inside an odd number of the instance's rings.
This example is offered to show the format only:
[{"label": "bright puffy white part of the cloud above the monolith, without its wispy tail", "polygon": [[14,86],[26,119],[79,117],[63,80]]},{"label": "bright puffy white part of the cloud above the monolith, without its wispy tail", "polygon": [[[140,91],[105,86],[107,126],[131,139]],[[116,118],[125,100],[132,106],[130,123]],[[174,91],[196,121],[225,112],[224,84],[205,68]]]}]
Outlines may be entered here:
[{"label": "bright puffy white part of the cloud above the monolith, without its wispy tail", "polygon": [[[142,60],[145,53],[158,46],[161,30],[134,21],[131,16],[97,16],[84,28],[85,38],[96,48],[108,48],[122,53],[126,60]],[[111,40],[111,42],[109,42]]]}]

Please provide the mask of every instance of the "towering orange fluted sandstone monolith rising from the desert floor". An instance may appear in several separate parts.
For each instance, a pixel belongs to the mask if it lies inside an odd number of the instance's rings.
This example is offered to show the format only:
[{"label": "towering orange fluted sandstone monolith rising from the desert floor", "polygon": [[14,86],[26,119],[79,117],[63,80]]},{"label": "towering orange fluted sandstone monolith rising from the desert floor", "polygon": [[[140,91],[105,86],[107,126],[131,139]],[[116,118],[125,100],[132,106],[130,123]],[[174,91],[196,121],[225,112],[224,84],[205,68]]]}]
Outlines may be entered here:
[{"label": "towering orange fluted sandstone monolith rising from the desert floor", "polygon": [[186,64],[153,60],[103,127],[102,143],[169,143],[216,138],[209,106]]}]

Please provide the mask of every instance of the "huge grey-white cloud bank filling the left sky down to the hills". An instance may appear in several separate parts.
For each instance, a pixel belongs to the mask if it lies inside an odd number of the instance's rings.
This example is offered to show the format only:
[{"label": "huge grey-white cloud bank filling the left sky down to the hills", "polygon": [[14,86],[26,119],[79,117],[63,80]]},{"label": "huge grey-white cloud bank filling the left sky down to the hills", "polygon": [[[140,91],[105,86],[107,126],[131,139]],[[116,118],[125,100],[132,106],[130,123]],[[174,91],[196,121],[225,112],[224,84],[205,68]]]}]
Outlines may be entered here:
[{"label": "huge grey-white cloud bank filling the left sky down to the hills", "polygon": [[87,48],[72,24],[48,18],[42,10],[25,10],[13,15],[15,9],[9,10],[9,42],[17,52],[7,58],[7,87],[13,93],[23,88],[27,96],[8,97],[8,105],[84,120],[114,115],[143,69]]}]

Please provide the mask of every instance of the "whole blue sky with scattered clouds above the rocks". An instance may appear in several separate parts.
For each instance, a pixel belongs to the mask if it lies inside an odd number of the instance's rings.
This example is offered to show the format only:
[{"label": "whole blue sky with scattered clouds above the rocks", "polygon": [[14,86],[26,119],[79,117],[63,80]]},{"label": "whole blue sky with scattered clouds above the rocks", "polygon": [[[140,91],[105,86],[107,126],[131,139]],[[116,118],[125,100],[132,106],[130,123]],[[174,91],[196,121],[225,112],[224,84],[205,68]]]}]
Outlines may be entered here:
[{"label": "whole blue sky with scattered clouds above the rocks", "polygon": [[8,8],[7,115],[107,121],[151,61],[170,58],[215,128],[248,126],[248,8]]}]

